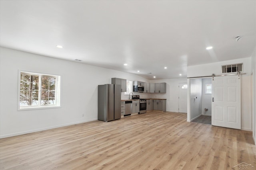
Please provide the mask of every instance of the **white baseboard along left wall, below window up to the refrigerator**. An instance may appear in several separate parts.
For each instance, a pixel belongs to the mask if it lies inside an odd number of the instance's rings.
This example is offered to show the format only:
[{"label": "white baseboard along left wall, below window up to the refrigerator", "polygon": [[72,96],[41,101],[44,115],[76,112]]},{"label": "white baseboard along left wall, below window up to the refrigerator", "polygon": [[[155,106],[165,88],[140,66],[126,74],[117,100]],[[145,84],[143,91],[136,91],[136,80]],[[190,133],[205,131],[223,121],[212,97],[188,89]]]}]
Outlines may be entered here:
[{"label": "white baseboard along left wall, below window up to the refrigerator", "polygon": [[64,126],[69,126],[69,125],[76,125],[76,124],[85,123],[85,122],[94,121],[94,120],[98,120],[98,119],[89,119],[89,120],[85,120],[85,121],[78,121],[78,122],[73,122],[73,123],[57,125],[57,126],[45,127],[45,128],[41,128],[41,129],[34,129],[34,130],[30,130],[30,131],[22,131],[22,132],[18,132],[18,133],[11,133],[11,134],[7,134],[7,135],[0,135],[0,139],[1,138],[6,138],[6,137],[13,137],[13,136],[18,136],[18,135],[24,135],[24,134],[27,134],[27,133],[45,131],[45,130],[49,130],[49,129],[55,129],[55,128],[58,128],[58,127],[64,127]]}]

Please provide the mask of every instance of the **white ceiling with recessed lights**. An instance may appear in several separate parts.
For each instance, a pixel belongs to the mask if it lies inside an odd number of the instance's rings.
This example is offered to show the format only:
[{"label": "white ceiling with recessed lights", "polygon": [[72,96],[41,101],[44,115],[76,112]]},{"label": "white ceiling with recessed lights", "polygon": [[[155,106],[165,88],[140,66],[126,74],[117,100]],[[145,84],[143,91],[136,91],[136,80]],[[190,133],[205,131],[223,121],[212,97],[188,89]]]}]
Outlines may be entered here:
[{"label": "white ceiling with recessed lights", "polygon": [[186,77],[187,66],[251,57],[256,1],[1,0],[0,45],[149,80]]}]

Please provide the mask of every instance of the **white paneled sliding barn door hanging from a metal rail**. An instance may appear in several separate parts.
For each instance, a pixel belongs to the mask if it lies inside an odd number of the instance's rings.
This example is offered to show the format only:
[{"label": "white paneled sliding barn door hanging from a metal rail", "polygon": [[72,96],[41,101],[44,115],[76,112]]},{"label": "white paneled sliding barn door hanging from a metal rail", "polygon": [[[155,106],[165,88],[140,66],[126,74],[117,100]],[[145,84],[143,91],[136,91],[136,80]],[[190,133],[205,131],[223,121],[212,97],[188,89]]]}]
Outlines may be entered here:
[{"label": "white paneled sliding barn door hanging from a metal rail", "polygon": [[241,129],[241,79],[237,75],[212,80],[212,125]]}]

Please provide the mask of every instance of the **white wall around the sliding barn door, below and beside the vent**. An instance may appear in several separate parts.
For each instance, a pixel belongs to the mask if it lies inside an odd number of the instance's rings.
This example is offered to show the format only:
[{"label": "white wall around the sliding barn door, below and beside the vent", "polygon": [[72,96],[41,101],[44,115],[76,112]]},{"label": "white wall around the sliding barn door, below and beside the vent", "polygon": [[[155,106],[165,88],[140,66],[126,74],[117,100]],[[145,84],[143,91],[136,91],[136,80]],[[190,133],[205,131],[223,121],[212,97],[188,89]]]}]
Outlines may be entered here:
[{"label": "white wall around the sliding barn door, below and beside the vent", "polygon": [[[250,114],[250,72],[251,72],[251,57],[244,59],[236,59],[230,61],[222,61],[210,64],[202,64],[196,66],[188,66],[187,76],[211,76],[212,74],[221,74],[221,65],[244,63],[243,73],[241,76],[241,126],[242,130],[252,131],[252,115]],[[188,81],[189,82],[189,81]],[[188,98],[189,99],[189,98]],[[190,114],[188,106],[188,114]],[[189,116],[188,116],[189,121]]]}]

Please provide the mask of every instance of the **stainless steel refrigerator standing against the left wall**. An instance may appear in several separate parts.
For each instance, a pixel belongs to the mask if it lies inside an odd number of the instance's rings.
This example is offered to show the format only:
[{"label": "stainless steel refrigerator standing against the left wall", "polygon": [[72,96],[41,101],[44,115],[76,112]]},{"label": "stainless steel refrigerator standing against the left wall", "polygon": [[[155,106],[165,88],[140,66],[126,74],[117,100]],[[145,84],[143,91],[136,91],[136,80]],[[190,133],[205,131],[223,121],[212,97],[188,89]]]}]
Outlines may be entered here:
[{"label": "stainless steel refrigerator standing against the left wall", "polygon": [[121,118],[121,85],[98,85],[98,120],[112,121]]}]

